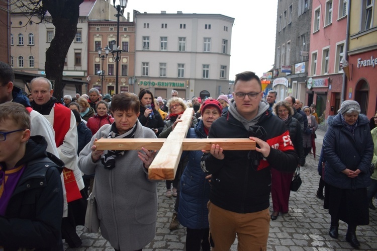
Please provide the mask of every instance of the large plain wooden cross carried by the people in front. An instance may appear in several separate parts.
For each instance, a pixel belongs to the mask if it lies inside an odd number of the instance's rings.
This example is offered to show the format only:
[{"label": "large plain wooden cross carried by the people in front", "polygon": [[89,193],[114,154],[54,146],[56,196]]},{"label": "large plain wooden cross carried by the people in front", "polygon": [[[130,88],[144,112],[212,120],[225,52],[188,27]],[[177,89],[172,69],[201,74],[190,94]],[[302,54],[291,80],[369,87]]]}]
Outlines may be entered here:
[{"label": "large plain wooden cross carried by the people in front", "polygon": [[212,144],[219,144],[224,150],[255,150],[255,141],[249,138],[207,138],[186,139],[187,131],[192,123],[193,108],[187,108],[182,122],[166,139],[99,139],[95,142],[98,150],[159,150],[148,169],[150,180],[174,180],[180,155],[183,150],[210,150]]}]

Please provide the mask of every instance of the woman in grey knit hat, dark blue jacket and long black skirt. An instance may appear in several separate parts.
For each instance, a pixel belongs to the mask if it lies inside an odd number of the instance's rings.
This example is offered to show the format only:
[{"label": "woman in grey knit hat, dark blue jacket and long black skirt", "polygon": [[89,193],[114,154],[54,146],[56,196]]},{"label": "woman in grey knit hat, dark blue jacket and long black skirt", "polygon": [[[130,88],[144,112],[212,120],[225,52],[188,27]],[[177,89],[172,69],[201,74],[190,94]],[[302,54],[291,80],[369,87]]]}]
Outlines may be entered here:
[{"label": "woman in grey knit hat, dark blue jacket and long black skirt", "polygon": [[356,101],[344,101],[338,114],[328,118],[323,139],[325,204],[331,225],[329,235],[338,238],[339,220],[348,224],[346,240],[358,248],[356,226],[369,224],[366,188],[370,185],[373,140],[369,119],[360,114]]}]

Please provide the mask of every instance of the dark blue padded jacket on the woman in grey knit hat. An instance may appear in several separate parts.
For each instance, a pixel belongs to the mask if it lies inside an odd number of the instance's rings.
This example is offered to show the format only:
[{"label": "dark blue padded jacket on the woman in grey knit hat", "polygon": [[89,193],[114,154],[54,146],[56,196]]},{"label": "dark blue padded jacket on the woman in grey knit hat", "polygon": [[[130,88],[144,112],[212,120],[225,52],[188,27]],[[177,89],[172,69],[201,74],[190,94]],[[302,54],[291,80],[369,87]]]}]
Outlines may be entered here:
[{"label": "dark blue padded jacket on the woman in grey knit hat", "polygon": [[[370,185],[369,166],[373,157],[373,140],[370,134],[369,119],[358,116],[357,126],[352,133],[347,130],[340,114],[329,117],[329,128],[323,139],[323,157],[326,159],[325,173],[327,184],[341,189],[360,189]],[[342,173],[346,168],[361,173],[348,178]]]}]

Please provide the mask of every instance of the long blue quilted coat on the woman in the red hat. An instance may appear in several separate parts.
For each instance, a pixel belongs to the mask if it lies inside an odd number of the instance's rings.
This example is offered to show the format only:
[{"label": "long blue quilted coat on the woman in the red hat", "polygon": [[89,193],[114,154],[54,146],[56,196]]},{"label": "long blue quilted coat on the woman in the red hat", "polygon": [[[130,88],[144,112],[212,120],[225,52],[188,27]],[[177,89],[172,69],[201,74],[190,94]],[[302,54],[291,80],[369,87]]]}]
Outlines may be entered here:
[{"label": "long blue quilted coat on the woman in the red hat", "polygon": [[[190,128],[187,138],[207,138],[203,120],[195,128]],[[189,154],[189,162],[180,178],[178,220],[182,226],[191,229],[209,228],[207,203],[210,198],[210,183],[206,180],[208,174],[200,166],[203,152],[184,153]]]}]

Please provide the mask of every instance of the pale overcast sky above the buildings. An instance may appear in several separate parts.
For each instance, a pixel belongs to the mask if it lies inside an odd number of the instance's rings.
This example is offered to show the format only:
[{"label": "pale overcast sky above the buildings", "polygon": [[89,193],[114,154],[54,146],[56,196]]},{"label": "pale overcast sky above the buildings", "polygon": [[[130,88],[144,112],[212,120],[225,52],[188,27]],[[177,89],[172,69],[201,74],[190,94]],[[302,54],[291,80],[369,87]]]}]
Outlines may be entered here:
[{"label": "pale overcast sky above the buildings", "polygon": [[230,80],[245,70],[262,76],[274,63],[277,0],[129,0],[125,13],[130,12],[132,18],[133,10],[222,14],[234,18]]}]

